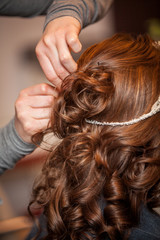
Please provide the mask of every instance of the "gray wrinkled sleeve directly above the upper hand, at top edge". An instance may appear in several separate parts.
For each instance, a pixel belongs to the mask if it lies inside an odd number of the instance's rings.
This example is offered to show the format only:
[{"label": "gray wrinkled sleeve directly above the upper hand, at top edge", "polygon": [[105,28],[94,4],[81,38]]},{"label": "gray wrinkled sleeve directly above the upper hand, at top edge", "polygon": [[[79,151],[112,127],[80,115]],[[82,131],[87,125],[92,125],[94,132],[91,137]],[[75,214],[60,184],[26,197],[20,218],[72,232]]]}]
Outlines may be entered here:
[{"label": "gray wrinkled sleeve directly above the upper hand, at top edge", "polygon": [[82,28],[104,17],[113,0],[55,0],[49,7],[45,26],[62,16],[76,18]]}]

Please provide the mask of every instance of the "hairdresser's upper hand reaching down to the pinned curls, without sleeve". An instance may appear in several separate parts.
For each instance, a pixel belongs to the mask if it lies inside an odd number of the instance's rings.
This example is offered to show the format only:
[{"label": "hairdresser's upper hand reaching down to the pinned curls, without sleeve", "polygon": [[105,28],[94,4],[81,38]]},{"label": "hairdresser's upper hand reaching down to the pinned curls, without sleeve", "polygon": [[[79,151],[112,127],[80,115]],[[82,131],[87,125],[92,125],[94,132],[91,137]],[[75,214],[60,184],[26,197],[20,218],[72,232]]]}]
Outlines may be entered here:
[{"label": "hairdresser's upper hand reaching down to the pinned curls, without sleeve", "polygon": [[36,46],[36,55],[47,79],[61,86],[62,80],[77,68],[71,56],[81,50],[78,35],[81,25],[74,17],[60,17],[49,22]]}]

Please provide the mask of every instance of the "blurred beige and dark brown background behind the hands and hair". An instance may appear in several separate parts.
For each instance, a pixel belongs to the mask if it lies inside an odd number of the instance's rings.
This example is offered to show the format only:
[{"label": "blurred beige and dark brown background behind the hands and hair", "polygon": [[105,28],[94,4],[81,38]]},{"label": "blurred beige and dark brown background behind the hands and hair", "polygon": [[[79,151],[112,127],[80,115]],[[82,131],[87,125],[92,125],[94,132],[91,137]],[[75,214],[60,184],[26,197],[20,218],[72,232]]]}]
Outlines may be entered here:
[{"label": "blurred beige and dark brown background behind the hands and hair", "polygon": [[[105,18],[82,30],[82,51],[115,32],[148,32],[160,40],[159,9],[159,0],[116,0]],[[0,17],[0,127],[14,116],[20,90],[47,81],[34,54],[43,24],[44,17]],[[74,55],[75,59],[78,56]],[[27,215],[32,183],[44,158],[45,152],[36,150],[0,177],[0,239],[24,239],[24,234],[16,232],[30,227],[21,217]]]}]

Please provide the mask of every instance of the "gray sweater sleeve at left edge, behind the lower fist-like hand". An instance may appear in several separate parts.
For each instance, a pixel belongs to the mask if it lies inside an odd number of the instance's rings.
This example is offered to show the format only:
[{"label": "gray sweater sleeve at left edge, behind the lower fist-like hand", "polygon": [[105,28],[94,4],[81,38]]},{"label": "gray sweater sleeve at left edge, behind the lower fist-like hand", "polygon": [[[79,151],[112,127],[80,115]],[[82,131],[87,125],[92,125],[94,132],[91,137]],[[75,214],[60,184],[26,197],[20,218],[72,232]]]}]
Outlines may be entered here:
[{"label": "gray sweater sleeve at left edge, behind the lower fist-like hand", "polygon": [[24,142],[17,134],[14,119],[0,129],[0,175],[13,168],[23,156],[33,152],[35,145]]}]

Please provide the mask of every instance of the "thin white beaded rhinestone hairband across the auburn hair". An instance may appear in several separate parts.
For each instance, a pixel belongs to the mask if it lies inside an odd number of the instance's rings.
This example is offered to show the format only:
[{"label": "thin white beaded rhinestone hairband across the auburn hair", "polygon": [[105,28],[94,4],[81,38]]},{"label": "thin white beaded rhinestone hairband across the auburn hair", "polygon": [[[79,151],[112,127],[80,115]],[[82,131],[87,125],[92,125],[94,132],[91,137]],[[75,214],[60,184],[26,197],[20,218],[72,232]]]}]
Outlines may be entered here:
[{"label": "thin white beaded rhinestone hairband across the auburn hair", "polygon": [[96,120],[89,120],[89,119],[85,119],[85,121],[87,123],[90,124],[94,124],[94,125],[101,125],[101,126],[128,126],[128,125],[132,125],[135,123],[138,123],[140,121],[145,120],[146,118],[149,118],[153,115],[155,115],[156,113],[160,112],[160,96],[158,98],[158,100],[153,104],[151,111],[149,113],[143,114],[142,116],[140,116],[139,118],[134,118],[130,121],[127,122],[99,122]]}]

